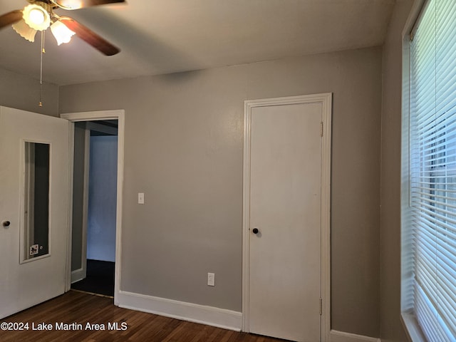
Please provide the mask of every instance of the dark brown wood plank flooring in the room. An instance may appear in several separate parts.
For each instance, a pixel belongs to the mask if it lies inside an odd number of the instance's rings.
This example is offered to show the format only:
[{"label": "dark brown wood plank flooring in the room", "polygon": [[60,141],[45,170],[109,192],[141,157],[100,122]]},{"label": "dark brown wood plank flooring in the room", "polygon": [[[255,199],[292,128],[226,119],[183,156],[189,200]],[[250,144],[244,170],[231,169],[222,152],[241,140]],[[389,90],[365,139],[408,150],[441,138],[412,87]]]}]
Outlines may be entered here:
[{"label": "dark brown wood plank flooring in the room", "polygon": [[[276,338],[238,333],[114,306],[113,299],[68,291],[31,309],[0,319],[28,323],[28,330],[0,329],[2,342],[280,342]],[[93,326],[90,330],[89,324]],[[114,330],[115,323],[119,330]],[[47,326],[46,326],[47,324]],[[109,325],[111,324],[111,326]],[[16,325],[17,326],[17,325]],[[48,330],[33,330],[37,328]],[[105,330],[101,330],[101,328]],[[65,328],[71,330],[63,330]],[[122,330],[124,329],[124,330]]]}]

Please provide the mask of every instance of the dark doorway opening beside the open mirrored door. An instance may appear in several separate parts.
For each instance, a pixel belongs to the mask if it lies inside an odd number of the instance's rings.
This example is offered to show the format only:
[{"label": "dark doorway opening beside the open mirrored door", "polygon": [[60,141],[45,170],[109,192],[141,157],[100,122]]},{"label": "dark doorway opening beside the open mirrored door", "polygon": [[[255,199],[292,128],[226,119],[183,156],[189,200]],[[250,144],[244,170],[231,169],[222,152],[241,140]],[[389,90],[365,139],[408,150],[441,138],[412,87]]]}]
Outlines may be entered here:
[{"label": "dark doorway opening beside the open mirrored door", "polygon": [[74,125],[71,289],[114,296],[118,120]]}]

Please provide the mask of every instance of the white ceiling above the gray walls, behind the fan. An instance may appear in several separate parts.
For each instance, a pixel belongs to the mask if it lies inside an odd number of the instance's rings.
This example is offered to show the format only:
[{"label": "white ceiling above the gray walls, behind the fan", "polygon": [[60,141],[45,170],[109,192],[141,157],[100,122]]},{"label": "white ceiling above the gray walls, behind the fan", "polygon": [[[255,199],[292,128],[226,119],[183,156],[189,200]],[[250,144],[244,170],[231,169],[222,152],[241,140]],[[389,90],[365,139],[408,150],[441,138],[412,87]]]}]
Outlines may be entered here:
[{"label": "white ceiling above the gray walls, behind the fan", "polygon": [[[395,0],[127,0],[71,16],[120,48],[104,56],[46,31],[43,81],[57,85],[157,75],[383,44]],[[0,14],[26,0],[0,0]],[[40,38],[0,30],[0,67],[40,76]]]}]

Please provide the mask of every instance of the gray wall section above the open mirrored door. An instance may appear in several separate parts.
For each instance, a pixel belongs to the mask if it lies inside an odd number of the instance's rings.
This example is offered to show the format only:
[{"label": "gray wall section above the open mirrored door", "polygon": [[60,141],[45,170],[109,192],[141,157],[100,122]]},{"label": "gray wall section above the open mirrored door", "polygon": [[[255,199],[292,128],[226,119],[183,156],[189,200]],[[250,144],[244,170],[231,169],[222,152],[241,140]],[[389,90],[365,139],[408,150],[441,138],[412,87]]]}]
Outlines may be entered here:
[{"label": "gray wall section above the open mirrored door", "polygon": [[43,83],[41,98],[38,80],[0,68],[0,105],[58,116],[58,86]]}]

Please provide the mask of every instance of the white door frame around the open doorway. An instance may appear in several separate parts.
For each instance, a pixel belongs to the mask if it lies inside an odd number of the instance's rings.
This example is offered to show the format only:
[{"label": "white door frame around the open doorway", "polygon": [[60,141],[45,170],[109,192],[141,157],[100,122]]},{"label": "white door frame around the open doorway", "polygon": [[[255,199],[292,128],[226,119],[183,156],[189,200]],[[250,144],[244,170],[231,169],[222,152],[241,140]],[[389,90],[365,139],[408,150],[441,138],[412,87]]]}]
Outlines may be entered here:
[{"label": "white door frame around the open doorway", "polygon": [[[69,213],[73,212],[73,152],[74,152],[74,123],[78,121],[93,120],[118,120],[118,164],[117,164],[117,208],[115,219],[115,286],[114,286],[114,304],[119,305],[120,291],[120,255],[122,252],[122,203],[123,203],[123,145],[125,134],[125,110],[100,110],[93,112],[65,113],[60,115],[61,118],[69,120],[72,123],[70,130],[70,175],[68,187],[70,189],[70,206]],[[71,234],[68,239],[68,280],[66,291],[71,288]]]}]

